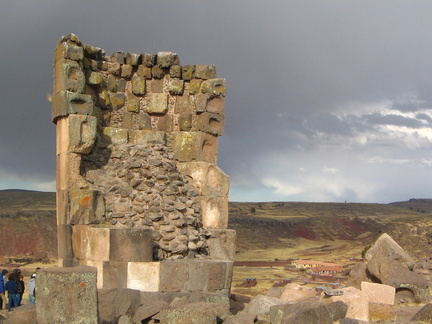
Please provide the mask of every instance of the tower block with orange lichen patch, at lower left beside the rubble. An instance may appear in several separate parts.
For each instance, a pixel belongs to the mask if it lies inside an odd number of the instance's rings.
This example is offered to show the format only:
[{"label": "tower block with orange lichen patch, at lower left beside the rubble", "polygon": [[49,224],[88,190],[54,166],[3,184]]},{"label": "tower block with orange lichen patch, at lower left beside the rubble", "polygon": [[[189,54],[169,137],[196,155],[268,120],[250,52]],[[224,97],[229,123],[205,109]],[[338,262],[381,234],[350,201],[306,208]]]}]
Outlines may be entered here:
[{"label": "tower block with orange lichen patch, at lower left beside the rubble", "polygon": [[71,190],[69,192],[70,224],[95,224],[105,215],[103,196],[94,190]]}]

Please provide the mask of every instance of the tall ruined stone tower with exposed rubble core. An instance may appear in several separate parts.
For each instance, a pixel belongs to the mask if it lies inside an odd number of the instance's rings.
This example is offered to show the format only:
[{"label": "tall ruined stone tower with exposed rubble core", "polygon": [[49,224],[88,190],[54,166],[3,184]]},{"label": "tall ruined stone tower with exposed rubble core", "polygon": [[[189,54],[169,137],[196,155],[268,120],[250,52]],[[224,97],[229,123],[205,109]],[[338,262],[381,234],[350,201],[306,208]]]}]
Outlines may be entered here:
[{"label": "tall ruined stone tower with exposed rubble core", "polygon": [[106,56],[77,36],[54,59],[59,265],[99,288],[229,291],[235,232],[217,167],[225,80],[175,53]]}]

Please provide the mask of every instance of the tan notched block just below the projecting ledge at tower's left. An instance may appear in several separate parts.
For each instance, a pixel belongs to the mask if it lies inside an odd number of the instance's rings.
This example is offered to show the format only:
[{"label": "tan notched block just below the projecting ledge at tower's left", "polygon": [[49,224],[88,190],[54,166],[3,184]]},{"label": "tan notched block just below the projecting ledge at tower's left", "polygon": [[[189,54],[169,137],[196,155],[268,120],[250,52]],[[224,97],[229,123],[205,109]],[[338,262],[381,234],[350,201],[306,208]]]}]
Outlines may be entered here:
[{"label": "tan notched block just below the projecting ledge at tower's left", "polygon": [[69,115],[68,122],[69,151],[80,154],[89,154],[96,140],[96,117]]}]

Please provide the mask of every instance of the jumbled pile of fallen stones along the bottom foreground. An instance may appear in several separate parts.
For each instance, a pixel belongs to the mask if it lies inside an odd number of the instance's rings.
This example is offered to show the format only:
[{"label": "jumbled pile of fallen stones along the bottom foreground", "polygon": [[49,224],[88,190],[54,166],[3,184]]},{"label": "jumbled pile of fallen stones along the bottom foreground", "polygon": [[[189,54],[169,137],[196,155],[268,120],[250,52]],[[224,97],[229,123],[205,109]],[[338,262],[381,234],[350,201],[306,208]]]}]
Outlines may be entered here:
[{"label": "jumbled pile of fallen stones along the bottom foreground", "polygon": [[[366,254],[366,262],[351,271],[352,286],[317,293],[289,283],[253,298],[99,289],[95,306],[98,320],[88,323],[432,323],[431,271],[432,258],[415,263],[383,234]],[[396,310],[403,312],[400,306],[404,303],[417,307],[401,320]],[[28,305],[20,307],[4,323],[37,323],[36,310]]]}]

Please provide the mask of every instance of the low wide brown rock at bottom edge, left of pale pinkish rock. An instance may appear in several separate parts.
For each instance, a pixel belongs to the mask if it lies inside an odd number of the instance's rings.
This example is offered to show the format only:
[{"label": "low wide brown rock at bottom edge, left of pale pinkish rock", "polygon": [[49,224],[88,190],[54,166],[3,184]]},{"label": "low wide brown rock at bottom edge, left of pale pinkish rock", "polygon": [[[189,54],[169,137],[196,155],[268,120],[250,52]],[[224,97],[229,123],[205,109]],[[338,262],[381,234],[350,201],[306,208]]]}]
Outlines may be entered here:
[{"label": "low wide brown rock at bottom edge, left of pale pinkish rock", "polygon": [[277,305],[270,309],[270,322],[333,324],[327,306],[319,301],[302,301],[294,304]]}]

